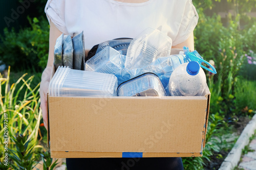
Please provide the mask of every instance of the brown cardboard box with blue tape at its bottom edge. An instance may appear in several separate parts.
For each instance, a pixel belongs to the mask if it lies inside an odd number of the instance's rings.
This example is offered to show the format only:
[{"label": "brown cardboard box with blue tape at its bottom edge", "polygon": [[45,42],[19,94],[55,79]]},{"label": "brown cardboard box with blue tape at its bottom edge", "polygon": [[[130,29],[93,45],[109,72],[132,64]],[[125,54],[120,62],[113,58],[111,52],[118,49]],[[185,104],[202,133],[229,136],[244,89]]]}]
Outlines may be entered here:
[{"label": "brown cardboard box with blue tape at its bottom edge", "polygon": [[48,96],[53,158],[199,157],[210,92],[204,96]]}]

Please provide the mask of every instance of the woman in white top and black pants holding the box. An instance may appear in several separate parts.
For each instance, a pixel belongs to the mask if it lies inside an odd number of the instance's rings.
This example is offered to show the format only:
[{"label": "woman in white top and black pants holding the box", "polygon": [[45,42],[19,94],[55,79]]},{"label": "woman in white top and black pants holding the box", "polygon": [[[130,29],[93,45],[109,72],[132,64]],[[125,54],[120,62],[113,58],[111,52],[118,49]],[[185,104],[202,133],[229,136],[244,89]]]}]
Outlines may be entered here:
[{"label": "woman in white top and black pants holding the box", "polygon": [[[56,39],[83,31],[86,56],[95,45],[115,38],[134,38],[146,28],[159,29],[172,48],[194,50],[198,14],[191,0],[48,0],[49,57],[40,84],[41,109],[47,129],[47,91]],[[135,162],[135,163],[133,163]],[[183,169],[181,158],[67,158],[68,169]]]}]

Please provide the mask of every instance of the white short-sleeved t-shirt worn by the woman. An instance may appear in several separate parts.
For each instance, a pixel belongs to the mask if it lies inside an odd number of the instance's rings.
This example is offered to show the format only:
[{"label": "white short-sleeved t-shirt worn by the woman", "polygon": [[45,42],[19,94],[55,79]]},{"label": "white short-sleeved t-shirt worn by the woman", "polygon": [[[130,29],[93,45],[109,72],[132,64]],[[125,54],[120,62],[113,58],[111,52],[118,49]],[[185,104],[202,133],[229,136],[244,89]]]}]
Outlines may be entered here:
[{"label": "white short-sleeved t-shirt worn by the woman", "polygon": [[62,33],[75,36],[83,31],[86,50],[115,38],[134,38],[146,28],[160,29],[177,45],[198,22],[191,0],[48,0],[45,12]]}]

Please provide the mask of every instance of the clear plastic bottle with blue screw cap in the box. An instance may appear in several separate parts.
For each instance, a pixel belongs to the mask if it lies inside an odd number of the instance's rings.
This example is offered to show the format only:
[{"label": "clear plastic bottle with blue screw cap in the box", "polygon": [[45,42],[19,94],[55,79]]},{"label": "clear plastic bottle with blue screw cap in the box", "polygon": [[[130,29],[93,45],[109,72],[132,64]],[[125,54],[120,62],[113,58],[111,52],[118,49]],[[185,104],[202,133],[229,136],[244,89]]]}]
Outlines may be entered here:
[{"label": "clear plastic bottle with blue screw cap in the box", "polygon": [[196,61],[178,66],[170,75],[169,92],[174,96],[202,95],[206,87],[203,69]]}]

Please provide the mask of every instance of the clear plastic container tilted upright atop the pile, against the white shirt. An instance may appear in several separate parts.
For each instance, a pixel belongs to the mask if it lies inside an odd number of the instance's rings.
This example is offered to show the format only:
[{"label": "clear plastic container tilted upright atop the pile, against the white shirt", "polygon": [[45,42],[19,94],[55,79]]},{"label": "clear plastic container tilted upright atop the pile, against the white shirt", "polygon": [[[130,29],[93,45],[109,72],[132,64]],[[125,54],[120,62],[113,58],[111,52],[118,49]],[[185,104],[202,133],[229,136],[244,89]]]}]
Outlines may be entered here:
[{"label": "clear plastic container tilted upright atop the pile, against the white shirt", "polygon": [[168,56],[171,48],[170,37],[157,29],[148,28],[130,43],[125,67],[134,69],[149,65],[159,57]]}]

